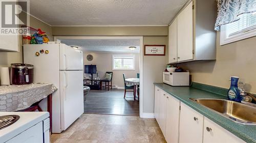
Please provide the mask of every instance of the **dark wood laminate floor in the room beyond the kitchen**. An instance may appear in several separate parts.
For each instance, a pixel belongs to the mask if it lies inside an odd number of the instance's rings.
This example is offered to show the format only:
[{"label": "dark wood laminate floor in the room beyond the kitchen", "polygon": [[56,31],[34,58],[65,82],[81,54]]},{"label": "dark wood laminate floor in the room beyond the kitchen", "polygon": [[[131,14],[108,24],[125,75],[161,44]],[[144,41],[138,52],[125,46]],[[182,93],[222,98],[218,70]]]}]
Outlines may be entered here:
[{"label": "dark wood laminate floor in the room beyond the kitchen", "polygon": [[124,90],[91,90],[86,95],[84,113],[139,116],[139,101],[133,100],[133,92],[126,92],[125,99],[123,95]]}]

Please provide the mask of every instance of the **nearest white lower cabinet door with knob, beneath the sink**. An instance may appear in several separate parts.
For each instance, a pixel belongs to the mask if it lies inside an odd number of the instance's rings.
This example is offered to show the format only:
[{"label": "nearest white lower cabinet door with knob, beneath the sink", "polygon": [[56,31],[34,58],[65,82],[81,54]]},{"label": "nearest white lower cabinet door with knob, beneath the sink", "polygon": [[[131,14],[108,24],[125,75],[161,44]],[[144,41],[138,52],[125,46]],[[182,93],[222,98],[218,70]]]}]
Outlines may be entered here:
[{"label": "nearest white lower cabinet door with knob, beneath the sink", "polygon": [[244,142],[242,139],[233,135],[216,123],[204,118],[204,143],[240,143]]}]

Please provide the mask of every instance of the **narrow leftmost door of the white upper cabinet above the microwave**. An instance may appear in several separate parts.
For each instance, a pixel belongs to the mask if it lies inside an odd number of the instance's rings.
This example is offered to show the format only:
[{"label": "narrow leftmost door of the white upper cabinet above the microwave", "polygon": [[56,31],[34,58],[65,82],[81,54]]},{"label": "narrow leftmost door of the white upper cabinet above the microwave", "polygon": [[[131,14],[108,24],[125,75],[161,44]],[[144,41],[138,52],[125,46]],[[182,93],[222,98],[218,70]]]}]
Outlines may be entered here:
[{"label": "narrow leftmost door of the white upper cabinet above the microwave", "polygon": [[177,62],[177,18],[169,26],[169,63]]}]

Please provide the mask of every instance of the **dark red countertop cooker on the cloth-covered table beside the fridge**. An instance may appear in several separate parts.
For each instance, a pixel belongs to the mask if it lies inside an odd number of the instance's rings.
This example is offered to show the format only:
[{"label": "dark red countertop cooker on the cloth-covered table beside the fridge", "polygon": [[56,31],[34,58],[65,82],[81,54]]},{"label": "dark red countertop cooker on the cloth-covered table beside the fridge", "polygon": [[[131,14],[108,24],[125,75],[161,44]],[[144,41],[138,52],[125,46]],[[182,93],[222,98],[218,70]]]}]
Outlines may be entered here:
[{"label": "dark red countertop cooker on the cloth-covered table beside the fridge", "polygon": [[31,84],[34,79],[34,66],[30,64],[11,64],[11,84]]}]

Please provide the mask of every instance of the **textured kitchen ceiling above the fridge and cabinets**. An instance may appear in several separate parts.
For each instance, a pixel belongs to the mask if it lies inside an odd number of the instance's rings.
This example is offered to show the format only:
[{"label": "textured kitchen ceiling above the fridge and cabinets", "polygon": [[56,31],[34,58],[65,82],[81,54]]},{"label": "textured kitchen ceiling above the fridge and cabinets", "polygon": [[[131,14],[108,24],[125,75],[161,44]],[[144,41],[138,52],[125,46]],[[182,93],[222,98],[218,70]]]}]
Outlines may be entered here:
[{"label": "textured kitchen ceiling above the fridge and cabinets", "polygon": [[167,25],[186,0],[30,0],[51,25]]}]

